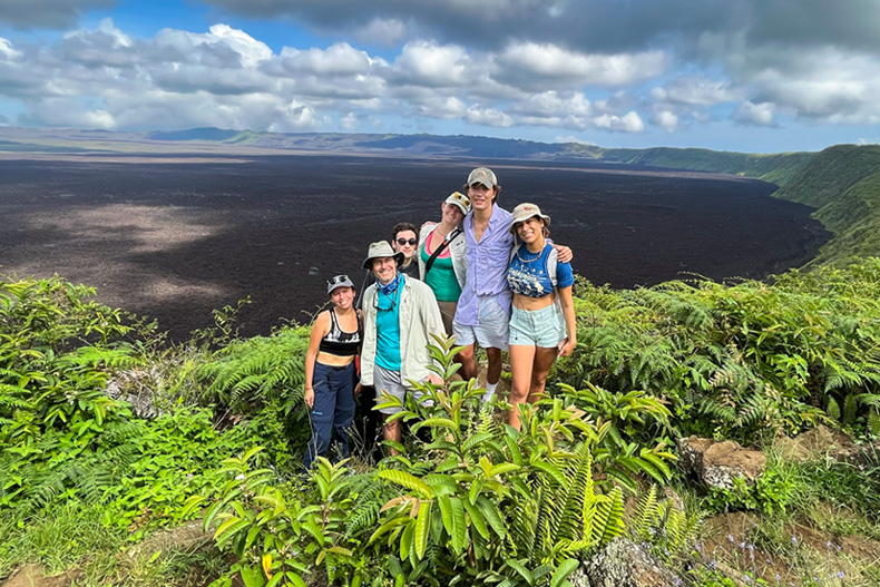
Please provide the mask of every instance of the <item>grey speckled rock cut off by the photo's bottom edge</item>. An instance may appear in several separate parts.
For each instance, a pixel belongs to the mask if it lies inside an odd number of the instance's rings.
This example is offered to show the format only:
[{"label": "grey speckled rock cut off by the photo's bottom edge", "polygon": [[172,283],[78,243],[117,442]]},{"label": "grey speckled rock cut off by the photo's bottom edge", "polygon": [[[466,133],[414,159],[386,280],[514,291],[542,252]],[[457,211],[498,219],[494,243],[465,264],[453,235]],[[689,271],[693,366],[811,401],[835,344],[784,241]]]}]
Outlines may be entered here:
[{"label": "grey speckled rock cut off by the photo's bottom edge", "polygon": [[[681,578],[647,549],[626,538],[615,538],[585,560],[583,575],[573,574],[575,587],[675,587]],[[588,581],[576,583],[575,578]]]}]

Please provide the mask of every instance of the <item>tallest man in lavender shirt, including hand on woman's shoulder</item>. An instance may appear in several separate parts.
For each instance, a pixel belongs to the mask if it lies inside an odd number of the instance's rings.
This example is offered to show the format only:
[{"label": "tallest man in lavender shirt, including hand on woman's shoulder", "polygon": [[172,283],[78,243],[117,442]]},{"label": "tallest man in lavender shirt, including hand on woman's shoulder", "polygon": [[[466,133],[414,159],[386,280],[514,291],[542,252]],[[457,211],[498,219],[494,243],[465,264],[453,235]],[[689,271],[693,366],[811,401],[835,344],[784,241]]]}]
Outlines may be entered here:
[{"label": "tallest man in lavender shirt, including hand on woman's shoulder", "polygon": [[[465,189],[471,203],[471,212],[463,222],[468,277],[458,301],[452,333],[457,344],[465,345],[458,355],[465,380],[476,378],[479,370],[473,356],[475,343],[486,349],[489,364],[483,400],[488,401],[501,378],[501,351],[508,346],[512,294],[507,286],[507,267],[514,246],[510,233],[514,217],[495,205],[501,186],[491,169],[473,169]],[[570,261],[571,251],[558,248],[559,261]]]}]

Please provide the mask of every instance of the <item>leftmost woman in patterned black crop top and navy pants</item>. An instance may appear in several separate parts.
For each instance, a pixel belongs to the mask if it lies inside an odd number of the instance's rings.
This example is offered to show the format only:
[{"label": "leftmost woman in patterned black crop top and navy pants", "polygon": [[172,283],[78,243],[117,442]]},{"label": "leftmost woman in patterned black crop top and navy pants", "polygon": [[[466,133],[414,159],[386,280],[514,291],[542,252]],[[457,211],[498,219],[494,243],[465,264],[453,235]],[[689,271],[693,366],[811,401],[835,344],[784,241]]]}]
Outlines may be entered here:
[{"label": "leftmost woman in patterned black crop top and navy pants", "polygon": [[312,417],[306,469],[315,457],[326,454],[334,430],[340,453],[349,456],[349,428],[354,419],[354,358],[363,340],[361,315],[354,309],[354,284],[348,275],[336,275],[327,281],[327,294],[333,307],[315,319],[305,353],[305,404]]}]

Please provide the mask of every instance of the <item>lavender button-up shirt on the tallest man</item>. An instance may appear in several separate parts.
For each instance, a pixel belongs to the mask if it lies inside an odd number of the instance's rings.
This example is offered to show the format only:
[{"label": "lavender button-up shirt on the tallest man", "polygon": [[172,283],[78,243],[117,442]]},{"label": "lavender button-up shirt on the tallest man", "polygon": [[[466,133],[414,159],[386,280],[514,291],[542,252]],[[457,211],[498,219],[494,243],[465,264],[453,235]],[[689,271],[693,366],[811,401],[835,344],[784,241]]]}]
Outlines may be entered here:
[{"label": "lavender button-up shirt on the tallest man", "polygon": [[468,277],[456,310],[456,322],[467,326],[479,324],[480,296],[497,295],[498,304],[510,313],[514,294],[507,286],[507,266],[514,235],[510,223],[514,216],[503,208],[492,207],[489,226],[477,242],[473,236],[473,213],[465,216],[465,238],[468,245]]}]

